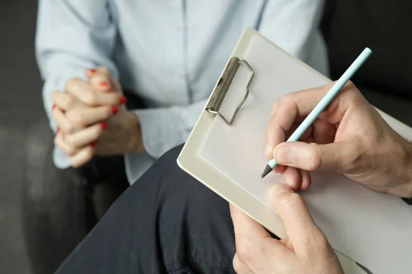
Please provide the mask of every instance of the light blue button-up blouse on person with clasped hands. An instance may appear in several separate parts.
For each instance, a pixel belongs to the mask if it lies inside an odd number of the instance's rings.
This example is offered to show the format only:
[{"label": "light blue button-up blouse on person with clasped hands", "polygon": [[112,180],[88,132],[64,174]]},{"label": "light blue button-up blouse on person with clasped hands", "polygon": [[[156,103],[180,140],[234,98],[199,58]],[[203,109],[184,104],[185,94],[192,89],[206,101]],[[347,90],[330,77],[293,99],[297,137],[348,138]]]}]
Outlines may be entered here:
[{"label": "light blue button-up blouse on person with clasped hands", "polygon": [[[328,75],[322,10],[322,0],[40,0],[36,58],[45,110],[51,117],[51,93],[69,78],[108,67],[148,105],[130,110],[147,151],[125,155],[133,183],[185,142],[245,27]],[[57,148],[54,162],[69,167]]]}]

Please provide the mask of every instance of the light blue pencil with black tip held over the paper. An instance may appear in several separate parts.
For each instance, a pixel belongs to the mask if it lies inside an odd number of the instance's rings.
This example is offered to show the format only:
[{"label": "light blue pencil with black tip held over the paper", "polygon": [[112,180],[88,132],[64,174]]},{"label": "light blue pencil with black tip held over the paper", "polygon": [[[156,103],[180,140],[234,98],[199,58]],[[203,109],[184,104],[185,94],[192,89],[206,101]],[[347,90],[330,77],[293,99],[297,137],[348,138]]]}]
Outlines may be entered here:
[{"label": "light blue pencil with black tip held over the paper", "polygon": [[[356,58],[356,60],[350,65],[350,67],[343,73],[341,78],[332,86],[332,88],[326,93],[326,95],[319,101],[316,107],[310,112],[310,114],[306,117],[306,119],[297,127],[295,132],[288,138],[286,142],[295,142],[301,138],[301,136],[306,132],[306,130],[312,125],[312,123],[317,119],[319,114],[325,110],[325,108],[329,105],[329,103],[334,99],[334,97],[338,94],[338,92],[345,86],[345,84],[352,78],[352,76],[358,71],[359,68],[365,63],[365,61],[369,58],[372,51],[368,48],[364,49],[361,55]],[[277,162],[272,159],[266,165],[262,173],[262,178],[268,175],[273,169],[277,166]]]}]

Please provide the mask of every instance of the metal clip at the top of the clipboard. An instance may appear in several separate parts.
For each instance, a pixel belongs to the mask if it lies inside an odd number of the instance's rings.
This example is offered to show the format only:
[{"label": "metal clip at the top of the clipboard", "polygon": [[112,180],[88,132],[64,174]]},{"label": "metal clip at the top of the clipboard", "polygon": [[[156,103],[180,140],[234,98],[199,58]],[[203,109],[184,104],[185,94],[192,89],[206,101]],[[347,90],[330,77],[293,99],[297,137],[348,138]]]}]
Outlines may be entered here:
[{"label": "metal clip at the top of the clipboard", "polygon": [[[251,71],[251,77],[246,86],[246,94],[244,95],[242,101],[240,101],[230,121],[228,121],[225,118],[225,116],[223,116],[223,114],[219,112],[219,108],[220,108],[220,105],[222,105],[223,100],[225,99],[227,90],[229,90],[233,77],[235,77],[236,72],[238,71],[241,63],[246,65],[248,69]],[[249,86],[251,85],[254,75],[255,75],[255,71],[253,71],[252,67],[249,65],[249,63],[246,60],[242,58],[232,57],[229,60],[229,63],[227,64],[225,71],[223,71],[222,77],[220,77],[218,85],[216,86],[213,94],[211,95],[209,103],[207,104],[207,107],[206,107],[206,111],[209,112],[212,116],[216,116],[216,115],[220,116],[227,123],[227,125],[231,125],[236,118],[236,114],[238,113],[238,110],[242,107],[247,97],[249,96]]]}]

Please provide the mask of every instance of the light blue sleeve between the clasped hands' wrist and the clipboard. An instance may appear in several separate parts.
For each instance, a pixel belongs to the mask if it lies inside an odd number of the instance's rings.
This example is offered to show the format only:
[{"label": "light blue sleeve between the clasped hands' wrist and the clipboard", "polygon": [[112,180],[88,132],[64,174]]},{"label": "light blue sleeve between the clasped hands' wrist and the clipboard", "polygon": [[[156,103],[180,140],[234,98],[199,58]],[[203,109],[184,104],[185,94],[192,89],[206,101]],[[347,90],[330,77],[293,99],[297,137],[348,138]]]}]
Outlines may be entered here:
[{"label": "light blue sleeve between the clasped hands' wrist and the clipboard", "polygon": [[133,110],[139,119],[143,145],[153,158],[181,145],[189,137],[207,100],[187,106]]}]

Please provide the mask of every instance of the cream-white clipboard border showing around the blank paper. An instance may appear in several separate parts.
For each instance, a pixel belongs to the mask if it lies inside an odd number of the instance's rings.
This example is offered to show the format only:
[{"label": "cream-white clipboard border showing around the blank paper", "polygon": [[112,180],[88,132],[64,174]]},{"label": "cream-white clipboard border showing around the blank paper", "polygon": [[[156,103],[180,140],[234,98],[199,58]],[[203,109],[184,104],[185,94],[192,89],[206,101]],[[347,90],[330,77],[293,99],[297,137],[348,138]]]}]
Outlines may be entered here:
[{"label": "cream-white clipboard border showing around the blank paper", "polygon": [[[259,32],[255,31],[255,29],[245,29],[235,49],[231,53],[230,58],[234,56],[238,58],[245,58],[250,42],[255,35],[262,36],[261,34],[259,34]],[[267,38],[265,39],[268,40]],[[271,41],[268,40],[268,42]],[[273,42],[271,43],[275,47],[282,49],[279,46],[275,45]],[[284,49],[282,49],[282,51],[284,51]],[[288,53],[287,51],[284,52],[290,55],[290,53]],[[304,62],[301,62],[301,60],[297,60],[296,58],[294,59],[297,62],[300,62],[302,65],[308,67],[308,69],[314,71],[314,73],[317,73],[325,79],[328,79],[328,77],[325,77],[318,71],[312,69],[312,67],[308,66]],[[229,60],[227,64],[229,63]],[[225,65],[225,67],[227,66],[227,64]],[[218,85],[219,79],[222,77],[222,74],[223,71],[220,74],[220,77],[218,78],[218,81],[216,82],[213,90],[216,90],[216,86]],[[328,81],[331,82],[330,79],[328,79]],[[211,95],[213,95],[213,92],[211,92]],[[209,104],[211,95],[209,96],[209,99],[205,104],[205,108]],[[220,197],[242,210],[242,212],[244,212],[244,214],[247,214],[247,216],[249,216],[251,219],[260,223],[260,225],[268,229],[268,231],[272,232],[279,238],[285,238],[286,230],[284,228],[282,220],[273,210],[271,210],[271,208],[268,208],[264,203],[250,195],[247,190],[240,188],[229,177],[218,171],[218,169],[209,164],[209,162],[201,158],[201,156],[199,155],[211,129],[211,126],[214,123],[214,119],[220,119],[217,116],[212,117],[211,114],[209,114],[205,110],[205,108],[196,121],[192,132],[185,142],[185,145],[183,145],[181,153],[179,153],[179,156],[176,160],[178,166],[183,169],[183,171],[194,177],[196,180],[207,186],[207,188],[210,188],[212,191],[216,192],[216,194],[218,194]],[[383,113],[380,112],[380,114]],[[361,266],[358,266],[358,264],[356,264],[354,260],[347,258],[343,254],[339,253],[339,251],[335,250],[335,253],[338,256],[345,273],[365,273],[365,271],[361,269]]]}]

